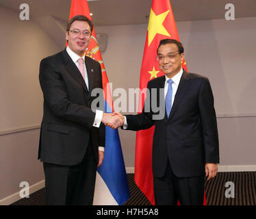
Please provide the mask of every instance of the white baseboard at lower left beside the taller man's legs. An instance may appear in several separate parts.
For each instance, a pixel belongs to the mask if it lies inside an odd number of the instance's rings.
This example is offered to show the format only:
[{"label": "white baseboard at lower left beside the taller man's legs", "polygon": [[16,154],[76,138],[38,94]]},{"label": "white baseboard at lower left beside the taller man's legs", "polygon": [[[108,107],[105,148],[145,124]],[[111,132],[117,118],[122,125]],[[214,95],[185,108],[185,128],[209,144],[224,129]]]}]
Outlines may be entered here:
[{"label": "white baseboard at lower left beside the taller man's legs", "polygon": [[[29,194],[32,194],[33,192],[36,192],[42,188],[44,188],[44,180],[29,186]],[[22,189],[22,188],[21,188]],[[16,201],[20,200],[21,196],[20,196],[20,192],[16,192],[6,198],[3,198],[0,200],[0,205],[10,205],[12,203],[15,203]]]}]

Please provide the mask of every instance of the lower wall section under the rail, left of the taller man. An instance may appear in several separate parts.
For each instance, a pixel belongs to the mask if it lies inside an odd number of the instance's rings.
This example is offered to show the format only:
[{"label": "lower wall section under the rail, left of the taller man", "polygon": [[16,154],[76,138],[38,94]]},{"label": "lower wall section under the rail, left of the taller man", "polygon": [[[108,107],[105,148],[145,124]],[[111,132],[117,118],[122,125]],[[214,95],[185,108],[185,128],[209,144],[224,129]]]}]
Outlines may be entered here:
[{"label": "lower wall section under the rail, left of the taller man", "polygon": [[22,181],[34,185],[44,179],[37,159],[39,133],[34,129],[0,136],[0,200],[21,190]]}]

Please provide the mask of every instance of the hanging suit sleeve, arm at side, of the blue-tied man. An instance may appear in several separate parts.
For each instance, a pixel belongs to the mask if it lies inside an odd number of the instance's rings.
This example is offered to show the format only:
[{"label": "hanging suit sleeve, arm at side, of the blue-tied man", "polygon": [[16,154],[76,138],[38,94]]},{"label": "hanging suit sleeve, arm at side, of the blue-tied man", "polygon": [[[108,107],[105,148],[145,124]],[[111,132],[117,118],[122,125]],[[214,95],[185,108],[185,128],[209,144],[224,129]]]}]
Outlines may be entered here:
[{"label": "hanging suit sleeve, arm at side, of the blue-tied man", "polygon": [[205,146],[205,162],[219,163],[219,144],[214,96],[207,78],[203,79],[199,92],[199,111]]}]

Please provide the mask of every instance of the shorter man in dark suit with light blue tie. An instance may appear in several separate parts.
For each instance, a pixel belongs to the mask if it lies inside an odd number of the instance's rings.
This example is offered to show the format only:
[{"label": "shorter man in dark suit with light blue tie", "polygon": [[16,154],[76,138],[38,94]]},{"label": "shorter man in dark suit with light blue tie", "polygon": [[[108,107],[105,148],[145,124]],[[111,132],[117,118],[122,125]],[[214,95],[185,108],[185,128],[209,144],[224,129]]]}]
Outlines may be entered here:
[{"label": "shorter man in dark suit with light blue tie", "polygon": [[[176,205],[178,199],[181,205],[203,205],[205,175],[209,180],[218,171],[212,89],[206,77],[183,70],[183,59],[181,42],[161,40],[157,60],[165,76],[149,81],[143,112],[125,118],[116,113],[124,121],[123,129],[138,131],[155,125],[152,162],[157,205]],[[159,112],[152,110],[153,105]],[[159,119],[163,108],[165,115]]]}]

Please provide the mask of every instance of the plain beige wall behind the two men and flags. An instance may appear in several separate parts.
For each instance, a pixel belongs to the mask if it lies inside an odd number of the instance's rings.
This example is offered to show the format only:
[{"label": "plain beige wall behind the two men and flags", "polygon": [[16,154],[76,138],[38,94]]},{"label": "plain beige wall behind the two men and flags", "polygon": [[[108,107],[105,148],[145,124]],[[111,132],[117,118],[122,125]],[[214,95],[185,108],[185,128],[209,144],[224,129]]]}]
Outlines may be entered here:
[{"label": "plain beige wall behind the two men and flags", "polygon": [[[8,23],[5,21],[8,20]],[[0,133],[35,127],[42,117],[38,68],[60,51],[45,23],[20,21],[0,8]],[[51,25],[51,23],[49,23]],[[221,165],[255,165],[256,18],[177,23],[188,70],[209,77],[215,97]],[[138,88],[147,25],[96,27],[108,35],[103,61],[115,88]],[[9,33],[9,34],[8,34]],[[64,37],[64,36],[63,36]],[[136,133],[120,130],[125,165],[134,166]],[[0,135],[0,200],[44,179],[37,160],[39,129]]]}]

